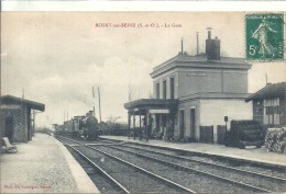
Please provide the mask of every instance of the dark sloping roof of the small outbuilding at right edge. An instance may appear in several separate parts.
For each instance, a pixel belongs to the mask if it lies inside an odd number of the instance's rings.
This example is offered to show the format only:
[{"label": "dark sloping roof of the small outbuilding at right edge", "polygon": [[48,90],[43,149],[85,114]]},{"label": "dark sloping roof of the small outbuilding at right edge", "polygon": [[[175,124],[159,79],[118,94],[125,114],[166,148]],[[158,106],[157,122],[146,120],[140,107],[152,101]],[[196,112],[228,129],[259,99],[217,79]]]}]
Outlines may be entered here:
[{"label": "dark sloping roof of the small outbuilding at right edge", "polygon": [[263,89],[253,93],[249,98],[245,99],[245,102],[250,102],[252,100],[264,100],[272,98],[285,98],[286,96],[286,82],[280,83],[268,83]]}]

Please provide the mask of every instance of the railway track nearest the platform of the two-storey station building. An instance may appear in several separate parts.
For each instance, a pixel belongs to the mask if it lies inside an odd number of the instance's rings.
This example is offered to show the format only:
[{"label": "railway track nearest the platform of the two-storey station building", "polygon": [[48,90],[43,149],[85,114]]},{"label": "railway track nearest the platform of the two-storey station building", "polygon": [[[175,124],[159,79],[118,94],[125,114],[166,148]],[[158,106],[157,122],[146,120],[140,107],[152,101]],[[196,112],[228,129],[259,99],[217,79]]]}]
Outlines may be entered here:
[{"label": "railway track nearest the platform of the two-storey station building", "polygon": [[[227,167],[222,164],[201,162],[187,157],[172,156],[158,151],[142,150],[139,148],[130,148],[127,145],[123,147],[108,146],[112,149],[125,151],[139,157],[147,158],[154,161],[164,162],[168,166],[177,167],[188,171],[196,171],[209,174],[210,176],[218,176],[219,179],[238,182],[238,184],[249,186],[252,189],[260,187],[264,192],[285,192],[286,179],[272,176],[264,173],[241,170],[238,168]],[[228,178],[228,179],[226,179]]]}]

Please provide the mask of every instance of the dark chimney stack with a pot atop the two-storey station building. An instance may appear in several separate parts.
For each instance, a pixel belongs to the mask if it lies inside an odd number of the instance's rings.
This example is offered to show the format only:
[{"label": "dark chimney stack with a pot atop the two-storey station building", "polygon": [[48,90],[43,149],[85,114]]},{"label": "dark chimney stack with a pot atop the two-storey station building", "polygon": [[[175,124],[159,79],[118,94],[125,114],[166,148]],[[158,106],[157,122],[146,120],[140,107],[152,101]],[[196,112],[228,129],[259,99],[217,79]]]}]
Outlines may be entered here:
[{"label": "dark chimney stack with a pot atop the two-storey station building", "polygon": [[206,54],[208,60],[220,60],[220,39],[211,39],[211,27],[208,27],[208,38],[206,39]]}]

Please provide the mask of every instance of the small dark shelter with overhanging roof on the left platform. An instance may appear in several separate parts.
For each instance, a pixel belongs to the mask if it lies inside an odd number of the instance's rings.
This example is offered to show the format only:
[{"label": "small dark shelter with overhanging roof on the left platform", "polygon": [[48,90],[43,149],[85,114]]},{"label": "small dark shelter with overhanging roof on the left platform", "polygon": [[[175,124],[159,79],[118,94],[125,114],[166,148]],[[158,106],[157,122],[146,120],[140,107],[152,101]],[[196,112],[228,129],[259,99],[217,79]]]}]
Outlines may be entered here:
[{"label": "small dark shelter with overhanging roof on the left platform", "polygon": [[12,142],[32,140],[35,111],[45,111],[45,105],[12,95],[1,96],[0,105],[1,137],[8,137]]}]

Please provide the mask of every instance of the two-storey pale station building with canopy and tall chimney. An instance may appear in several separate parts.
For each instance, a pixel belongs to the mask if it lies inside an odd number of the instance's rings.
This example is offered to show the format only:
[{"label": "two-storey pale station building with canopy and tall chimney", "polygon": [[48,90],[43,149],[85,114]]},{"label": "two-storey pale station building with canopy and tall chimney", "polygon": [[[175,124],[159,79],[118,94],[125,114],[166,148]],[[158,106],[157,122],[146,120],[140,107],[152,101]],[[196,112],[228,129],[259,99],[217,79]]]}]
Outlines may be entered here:
[{"label": "two-storey pale station building with canopy and tall chimney", "polygon": [[211,38],[208,31],[206,54],[190,56],[182,50],[153,69],[153,99],[124,104],[129,126],[132,129],[133,123],[135,129],[139,116],[140,128],[148,128],[145,136],[217,142],[218,128],[226,128],[221,127],[224,116],[252,119],[252,104],[244,101],[250,95],[250,68],[243,58],[221,57],[220,39]]}]

